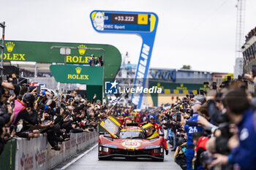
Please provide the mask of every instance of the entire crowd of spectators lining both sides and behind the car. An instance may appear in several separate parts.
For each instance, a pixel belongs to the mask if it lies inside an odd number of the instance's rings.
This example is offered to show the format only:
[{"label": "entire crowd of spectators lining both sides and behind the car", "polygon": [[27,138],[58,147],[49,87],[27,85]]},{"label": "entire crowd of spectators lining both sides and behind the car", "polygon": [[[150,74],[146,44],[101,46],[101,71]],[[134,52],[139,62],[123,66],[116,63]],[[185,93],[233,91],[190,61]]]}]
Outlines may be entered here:
[{"label": "entire crowd of spectators lining both sides and behind the car", "polygon": [[60,150],[70,133],[96,131],[108,115],[137,123],[154,115],[181,169],[256,169],[256,98],[247,85],[255,80],[246,77],[227,79],[219,87],[207,83],[207,91],[144,110],[122,104],[110,108],[95,101],[97,96],[88,101],[75,90],[55,95],[9,77],[0,82],[0,154],[13,137],[29,140],[44,134],[52,149]]}]

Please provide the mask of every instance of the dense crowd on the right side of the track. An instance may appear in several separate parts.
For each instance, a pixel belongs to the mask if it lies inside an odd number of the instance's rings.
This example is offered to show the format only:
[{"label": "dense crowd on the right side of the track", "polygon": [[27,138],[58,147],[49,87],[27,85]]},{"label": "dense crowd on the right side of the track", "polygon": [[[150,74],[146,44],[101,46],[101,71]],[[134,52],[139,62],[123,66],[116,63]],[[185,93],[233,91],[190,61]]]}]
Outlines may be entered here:
[{"label": "dense crowd on the right side of the track", "polygon": [[176,163],[181,169],[256,169],[256,98],[247,80],[209,88],[157,113]]}]

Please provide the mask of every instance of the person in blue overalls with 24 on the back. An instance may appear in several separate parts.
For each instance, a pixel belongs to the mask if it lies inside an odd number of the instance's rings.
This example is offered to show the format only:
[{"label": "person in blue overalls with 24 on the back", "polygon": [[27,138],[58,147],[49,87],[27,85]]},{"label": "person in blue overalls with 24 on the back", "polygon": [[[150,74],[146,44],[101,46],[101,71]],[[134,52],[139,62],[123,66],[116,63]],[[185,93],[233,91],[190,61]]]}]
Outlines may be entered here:
[{"label": "person in blue overalls with 24 on the back", "polygon": [[[197,109],[199,109],[200,106],[201,106],[200,104],[195,104],[193,106],[194,114],[188,121],[197,122],[197,117],[198,117]],[[191,170],[193,169],[192,160],[195,155],[195,152],[194,152],[195,145],[193,143],[192,134],[203,131],[203,128],[199,126],[192,126],[187,124],[184,125],[184,128],[185,128],[185,131],[187,132],[187,152],[186,152],[187,170]]]}]

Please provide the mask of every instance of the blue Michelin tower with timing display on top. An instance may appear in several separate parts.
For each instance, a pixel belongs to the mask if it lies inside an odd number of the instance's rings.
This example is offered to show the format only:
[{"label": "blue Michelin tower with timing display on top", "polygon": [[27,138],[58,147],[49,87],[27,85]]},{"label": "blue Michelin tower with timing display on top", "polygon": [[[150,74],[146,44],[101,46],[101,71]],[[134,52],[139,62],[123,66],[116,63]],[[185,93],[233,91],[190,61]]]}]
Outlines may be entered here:
[{"label": "blue Michelin tower with timing display on top", "polygon": [[[100,33],[138,34],[143,39],[140,56],[135,74],[133,88],[145,87],[154,38],[157,33],[158,17],[154,12],[124,12],[94,10],[90,15],[91,24]],[[135,96],[132,103],[140,109],[143,93]]]}]

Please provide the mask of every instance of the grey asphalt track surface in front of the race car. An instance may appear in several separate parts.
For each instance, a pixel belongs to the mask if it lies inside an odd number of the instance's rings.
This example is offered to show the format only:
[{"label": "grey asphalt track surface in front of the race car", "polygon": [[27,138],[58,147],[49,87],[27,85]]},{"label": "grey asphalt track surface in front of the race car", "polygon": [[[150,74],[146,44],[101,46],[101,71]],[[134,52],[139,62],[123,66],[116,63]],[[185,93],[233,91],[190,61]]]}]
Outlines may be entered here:
[{"label": "grey asphalt track surface in front of the race car", "polygon": [[[170,148],[170,147],[169,147]],[[170,150],[170,149],[169,149]],[[148,170],[148,169],[172,169],[181,170],[181,168],[173,161],[173,153],[169,151],[169,155],[165,155],[164,162],[151,161],[148,159],[126,160],[123,158],[115,158],[109,161],[98,160],[98,147],[83,155],[78,161],[68,166],[67,170]],[[66,170],[65,169],[65,170]]]}]

